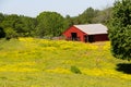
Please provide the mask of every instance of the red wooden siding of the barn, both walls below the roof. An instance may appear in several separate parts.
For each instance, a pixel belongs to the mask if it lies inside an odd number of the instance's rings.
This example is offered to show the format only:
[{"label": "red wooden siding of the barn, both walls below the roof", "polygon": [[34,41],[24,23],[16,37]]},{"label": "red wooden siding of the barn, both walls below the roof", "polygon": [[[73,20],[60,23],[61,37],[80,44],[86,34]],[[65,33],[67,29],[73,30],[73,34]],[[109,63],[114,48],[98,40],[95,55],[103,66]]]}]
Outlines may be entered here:
[{"label": "red wooden siding of the barn, both walls below the roof", "polygon": [[80,30],[75,26],[68,28],[63,36],[66,36],[67,40],[73,40],[73,36],[76,36],[75,40],[80,40],[83,42],[90,41],[105,41],[108,40],[108,34],[99,34],[99,35],[87,35],[86,33]]}]

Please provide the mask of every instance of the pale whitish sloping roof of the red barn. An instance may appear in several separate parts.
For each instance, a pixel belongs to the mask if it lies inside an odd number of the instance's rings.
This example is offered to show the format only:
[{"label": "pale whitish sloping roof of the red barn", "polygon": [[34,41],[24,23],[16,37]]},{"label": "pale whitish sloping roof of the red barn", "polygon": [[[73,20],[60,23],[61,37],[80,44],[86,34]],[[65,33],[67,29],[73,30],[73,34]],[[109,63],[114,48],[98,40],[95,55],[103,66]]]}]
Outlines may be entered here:
[{"label": "pale whitish sloping roof of the red barn", "polygon": [[74,25],[87,35],[107,34],[108,28],[103,24]]}]

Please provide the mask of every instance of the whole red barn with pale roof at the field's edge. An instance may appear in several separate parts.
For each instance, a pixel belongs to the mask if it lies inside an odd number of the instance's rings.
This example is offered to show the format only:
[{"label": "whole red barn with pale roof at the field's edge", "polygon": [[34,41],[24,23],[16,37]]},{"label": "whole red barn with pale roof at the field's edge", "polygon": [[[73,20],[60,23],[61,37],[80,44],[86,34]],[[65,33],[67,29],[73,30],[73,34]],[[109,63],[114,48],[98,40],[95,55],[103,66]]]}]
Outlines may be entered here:
[{"label": "whole red barn with pale roof at the field's edge", "polygon": [[103,24],[73,25],[63,36],[67,40],[80,40],[83,42],[108,40],[108,28]]}]

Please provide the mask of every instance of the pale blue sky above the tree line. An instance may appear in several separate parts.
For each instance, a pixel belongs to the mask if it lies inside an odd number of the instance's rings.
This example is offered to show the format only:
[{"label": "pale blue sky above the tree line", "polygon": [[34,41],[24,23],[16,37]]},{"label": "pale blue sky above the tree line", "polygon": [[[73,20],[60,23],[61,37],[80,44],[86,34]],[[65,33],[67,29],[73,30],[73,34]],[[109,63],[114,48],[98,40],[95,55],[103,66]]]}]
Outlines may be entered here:
[{"label": "pale blue sky above the tree line", "polygon": [[43,11],[53,11],[61,15],[76,16],[92,7],[105,9],[115,0],[0,0],[0,12],[36,17]]}]

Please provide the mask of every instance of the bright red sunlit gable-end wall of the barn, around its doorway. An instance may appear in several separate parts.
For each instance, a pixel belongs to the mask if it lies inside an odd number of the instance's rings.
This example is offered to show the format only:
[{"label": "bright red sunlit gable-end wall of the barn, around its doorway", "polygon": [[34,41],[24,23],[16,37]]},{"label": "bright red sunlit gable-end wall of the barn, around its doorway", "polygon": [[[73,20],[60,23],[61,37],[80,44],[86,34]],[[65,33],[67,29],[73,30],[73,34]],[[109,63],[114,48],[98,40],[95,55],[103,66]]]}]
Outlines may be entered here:
[{"label": "bright red sunlit gable-end wall of the barn, around its doorway", "polygon": [[66,36],[66,39],[71,40],[71,33],[76,33],[78,38],[80,38],[81,41],[84,41],[84,35],[85,33],[81,32],[79,28],[72,26],[69,29],[67,29],[63,35]]}]

